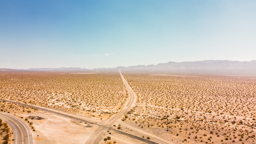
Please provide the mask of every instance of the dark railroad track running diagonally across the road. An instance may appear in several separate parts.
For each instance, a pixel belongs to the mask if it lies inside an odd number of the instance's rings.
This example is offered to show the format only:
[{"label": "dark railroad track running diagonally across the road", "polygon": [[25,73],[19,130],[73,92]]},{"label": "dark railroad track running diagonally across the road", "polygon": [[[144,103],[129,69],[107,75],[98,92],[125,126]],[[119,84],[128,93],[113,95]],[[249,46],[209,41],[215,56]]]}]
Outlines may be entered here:
[{"label": "dark railroad track running diagonally across the road", "polygon": [[49,110],[49,109],[44,109],[44,108],[41,108],[41,107],[37,107],[37,106],[33,106],[33,105],[28,105],[28,104],[23,104],[23,103],[14,102],[14,101],[9,101],[9,100],[5,100],[5,99],[0,99],[0,100],[1,100],[1,101],[5,101],[5,102],[9,102],[9,103],[15,103],[15,104],[19,104],[19,105],[24,105],[24,106],[28,106],[28,107],[32,107],[32,108],[44,110],[44,111],[47,111],[47,112],[50,112],[50,113],[54,113],[54,114],[58,114],[58,115],[62,115],[62,116],[65,116],[65,117],[69,117],[69,118],[72,118],[72,119],[76,119],[76,120],[79,120],[79,121],[83,121],[83,122],[86,122],[86,123],[90,123],[90,124],[93,124],[93,125],[97,125],[97,126],[100,126],[100,127],[108,128],[108,129],[110,129],[110,130],[119,132],[120,134],[129,136],[129,137],[132,137],[132,138],[135,138],[135,139],[138,139],[138,140],[147,142],[147,143],[158,144],[157,142],[154,142],[154,141],[151,141],[151,140],[142,138],[142,137],[138,137],[138,136],[129,134],[129,133],[127,133],[127,132],[123,132],[123,131],[121,131],[121,130],[116,130],[116,129],[113,129],[113,128],[110,128],[110,127],[106,127],[106,126],[103,126],[103,125],[100,125],[100,124],[97,124],[97,123],[93,123],[93,122],[88,121],[88,120],[84,120],[84,119],[77,118],[77,117],[74,117],[74,116],[70,116],[70,115],[67,115],[67,114],[63,114],[63,113],[60,113],[60,112],[55,112],[55,111],[52,111],[52,110]]}]

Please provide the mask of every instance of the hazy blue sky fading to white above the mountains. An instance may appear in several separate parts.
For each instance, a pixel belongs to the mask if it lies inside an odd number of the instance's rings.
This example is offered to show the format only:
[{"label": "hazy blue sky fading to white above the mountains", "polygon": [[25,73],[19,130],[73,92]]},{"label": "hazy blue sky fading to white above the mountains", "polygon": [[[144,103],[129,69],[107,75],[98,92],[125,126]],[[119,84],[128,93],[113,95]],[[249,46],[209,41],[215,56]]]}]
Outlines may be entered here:
[{"label": "hazy blue sky fading to white above the mountains", "polygon": [[0,0],[0,68],[256,60],[255,7],[255,0]]}]

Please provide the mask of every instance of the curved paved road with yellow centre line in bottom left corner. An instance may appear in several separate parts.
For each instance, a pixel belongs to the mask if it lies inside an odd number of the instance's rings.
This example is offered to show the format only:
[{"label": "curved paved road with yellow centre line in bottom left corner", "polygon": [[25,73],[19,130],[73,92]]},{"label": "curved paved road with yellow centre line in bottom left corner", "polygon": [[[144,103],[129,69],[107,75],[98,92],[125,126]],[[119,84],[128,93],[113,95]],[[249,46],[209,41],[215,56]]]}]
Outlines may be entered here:
[{"label": "curved paved road with yellow centre line in bottom left corner", "polygon": [[0,118],[12,128],[14,134],[14,144],[33,143],[30,128],[26,127],[25,121],[20,121],[9,114],[5,114],[4,112],[0,112]]}]

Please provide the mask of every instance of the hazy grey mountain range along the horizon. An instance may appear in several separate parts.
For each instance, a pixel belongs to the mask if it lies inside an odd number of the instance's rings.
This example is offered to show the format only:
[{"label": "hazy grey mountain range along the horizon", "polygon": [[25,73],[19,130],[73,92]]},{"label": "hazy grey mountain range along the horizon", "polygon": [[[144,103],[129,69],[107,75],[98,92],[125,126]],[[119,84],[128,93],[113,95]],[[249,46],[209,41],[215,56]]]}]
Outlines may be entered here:
[{"label": "hazy grey mountain range along the horizon", "polygon": [[34,69],[0,69],[0,71],[59,71],[59,72],[136,72],[168,74],[222,74],[222,75],[256,75],[256,60],[228,61],[204,60],[195,62],[167,62],[156,65],[136,65],[116,68],[34,68]]}]

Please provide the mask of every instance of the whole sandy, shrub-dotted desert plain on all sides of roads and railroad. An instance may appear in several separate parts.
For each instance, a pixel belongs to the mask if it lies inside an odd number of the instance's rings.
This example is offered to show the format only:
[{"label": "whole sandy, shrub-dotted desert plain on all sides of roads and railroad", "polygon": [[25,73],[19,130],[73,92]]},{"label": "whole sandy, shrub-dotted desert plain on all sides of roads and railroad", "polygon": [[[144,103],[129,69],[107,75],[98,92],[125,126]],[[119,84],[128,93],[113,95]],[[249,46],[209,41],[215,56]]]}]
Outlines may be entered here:
[{"label": "whole sandy, shrub-dotted desert plain on all sides of roads and railroad", "polygon": [[[158,143],[256,143],[256,76],[122,74],[136,103],[112,128]],[[0,98],[104,124],[129,93],[119,72],[1,71]],[[0,107],[29,121],[33,143],[86,143],[99,129],[19,104],[1,101]],[[98,143],[144,142],[109,131]]]}]

